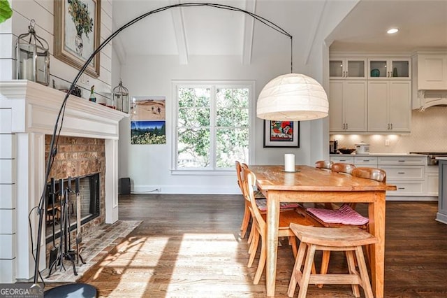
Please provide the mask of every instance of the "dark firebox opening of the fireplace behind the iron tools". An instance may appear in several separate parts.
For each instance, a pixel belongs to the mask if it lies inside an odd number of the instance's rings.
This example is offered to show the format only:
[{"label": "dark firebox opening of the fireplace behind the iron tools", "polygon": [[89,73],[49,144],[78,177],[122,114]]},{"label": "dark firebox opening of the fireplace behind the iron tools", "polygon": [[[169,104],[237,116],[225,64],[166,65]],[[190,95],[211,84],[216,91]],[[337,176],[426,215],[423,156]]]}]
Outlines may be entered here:
[{"label": "dark firebox opening of the fireplace behind the iron tools", "polygon": [[[75,179],[71,178],[71,191],[67,191],[68,181],[64,179],[64,185],[59,185],[59,180],[55,181],[55,192],[51,192],[51,183],[47,183],[45,199],[45,232],[46,243],[51,243],[53,239],[58,239],[61,234],[61,199],[68,194],[68,222],[70,231],[77,229],[77,208],[80,208],[81,226],[86,222],[97,218],[100,215],[100,185],[99,173],[79,177],[80,206],[76,203]],[[61,192],[62,190],[62,192]],[[63,229],[64,227],[62,227]],[[53,237],[54,235],[54,237]]]}]

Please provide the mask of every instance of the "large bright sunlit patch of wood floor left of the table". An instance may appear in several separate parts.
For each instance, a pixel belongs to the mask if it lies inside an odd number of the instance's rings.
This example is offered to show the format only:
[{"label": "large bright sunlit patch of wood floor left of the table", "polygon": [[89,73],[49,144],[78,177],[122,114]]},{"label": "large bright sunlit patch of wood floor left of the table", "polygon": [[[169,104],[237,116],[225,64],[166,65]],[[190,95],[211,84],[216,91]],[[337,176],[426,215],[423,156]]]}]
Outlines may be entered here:
[{"label": "large bright sunlit patch of wood floor left of the table", "polygon": [[[101,262],[93,279],[100,274],[117,278],[108,297],[122,297],[129,284],[133,297],[147,297],[149,293],[181,297],[184,292],[214,297],[213,293],[226,291],[249,292],[250,283],[245,281],[251,281],[253,270],[247,269],[239,240],[234,234],[130,237]],[[235,278],[240,279],[240,285],[234,285]],[[233,285],[228,287],[226,281]]]}]

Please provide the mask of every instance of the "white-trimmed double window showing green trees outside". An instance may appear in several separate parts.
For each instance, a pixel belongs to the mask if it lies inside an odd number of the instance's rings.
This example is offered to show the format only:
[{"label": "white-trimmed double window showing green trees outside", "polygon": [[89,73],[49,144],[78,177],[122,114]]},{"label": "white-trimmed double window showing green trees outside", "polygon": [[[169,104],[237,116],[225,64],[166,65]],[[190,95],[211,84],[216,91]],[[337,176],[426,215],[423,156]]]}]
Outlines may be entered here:
[{"label": "white-trimmed double window showing green trees outside", "polygon": [[175,169],[228,170],[249,162],[254,83],[178,83]]}]

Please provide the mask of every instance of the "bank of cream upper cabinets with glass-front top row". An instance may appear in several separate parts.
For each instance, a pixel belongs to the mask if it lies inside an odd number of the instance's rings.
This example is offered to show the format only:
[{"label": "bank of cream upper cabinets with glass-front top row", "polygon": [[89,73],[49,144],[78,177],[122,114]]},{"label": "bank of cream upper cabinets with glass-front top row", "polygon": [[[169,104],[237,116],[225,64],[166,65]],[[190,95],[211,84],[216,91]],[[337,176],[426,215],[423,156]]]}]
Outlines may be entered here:
[{"label": "bank of cream upper cabinets with glass-front top row", "polygon": [[404,55],[330,55],[330,133],[411,132],[411,66]]}]

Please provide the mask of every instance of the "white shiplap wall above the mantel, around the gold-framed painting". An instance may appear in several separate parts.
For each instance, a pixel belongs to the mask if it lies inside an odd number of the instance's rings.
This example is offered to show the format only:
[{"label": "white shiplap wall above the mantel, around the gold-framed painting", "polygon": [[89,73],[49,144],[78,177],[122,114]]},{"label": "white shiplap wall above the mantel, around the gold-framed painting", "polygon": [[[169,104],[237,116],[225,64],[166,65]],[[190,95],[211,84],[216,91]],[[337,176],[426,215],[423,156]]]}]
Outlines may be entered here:
[{"label": "white shiplap wall above the mantel, around the gold-framed painting", "polygon": [[[100,0],[98,0],[100,1]],[[17,36],[27,33],[31,20],[36,21],[36,34],[50,45],[50,87],[54,80],[57,89],[66,89],[78,74],[78,69],[54,58],[54,1],[53,0],[10,0],[13,17],[0,24],[0,80],[15,78],[14,45]],[[101,1],[101,43],[112,33],[112,1]],[[100,76],[85,75],[82,82],[82,97],[88,99],[91,85],[95,85],[96,98],[103,102],[110,98],[112,80],[112,45],[108,44],[100,54]]]}]

